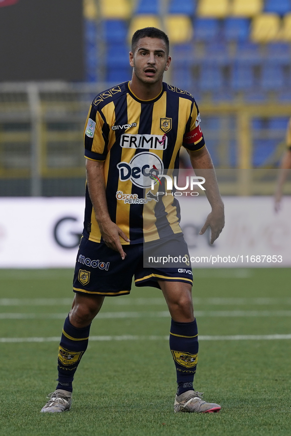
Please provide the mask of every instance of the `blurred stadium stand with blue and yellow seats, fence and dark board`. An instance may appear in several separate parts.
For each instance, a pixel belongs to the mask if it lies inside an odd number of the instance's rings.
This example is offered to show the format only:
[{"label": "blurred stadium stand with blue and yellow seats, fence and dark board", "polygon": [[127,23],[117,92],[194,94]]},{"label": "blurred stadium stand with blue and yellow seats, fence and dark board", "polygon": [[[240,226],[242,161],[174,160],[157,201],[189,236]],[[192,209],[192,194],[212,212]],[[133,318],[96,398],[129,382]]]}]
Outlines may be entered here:
[{"label": "blurred stadium stand with blue and yellow seats, fence and dark board", "polygon": [[165,81],[193,93],[216,168],[265,170],[222,193],[273,194],[291,116],[291,0],[0,0],[0,196],[84,195],[90,102],[130,80],[129,41],[147,26],[169,36]]}]

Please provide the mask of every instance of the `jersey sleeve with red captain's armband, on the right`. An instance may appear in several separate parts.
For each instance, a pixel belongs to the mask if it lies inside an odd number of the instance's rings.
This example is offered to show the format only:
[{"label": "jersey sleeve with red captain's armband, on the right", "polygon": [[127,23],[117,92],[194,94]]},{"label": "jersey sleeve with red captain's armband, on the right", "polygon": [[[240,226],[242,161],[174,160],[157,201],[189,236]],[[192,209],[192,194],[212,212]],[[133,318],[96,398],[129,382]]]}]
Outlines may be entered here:
[{"label": "jersey sleeve with red captain's armband, on the right", "polygon": [[185,134],[183,136],[183,147],[192,152],[200,150],[205,145],[200,123],[201,118],[199,109],[194,100],[191,115],[186,125]]}]

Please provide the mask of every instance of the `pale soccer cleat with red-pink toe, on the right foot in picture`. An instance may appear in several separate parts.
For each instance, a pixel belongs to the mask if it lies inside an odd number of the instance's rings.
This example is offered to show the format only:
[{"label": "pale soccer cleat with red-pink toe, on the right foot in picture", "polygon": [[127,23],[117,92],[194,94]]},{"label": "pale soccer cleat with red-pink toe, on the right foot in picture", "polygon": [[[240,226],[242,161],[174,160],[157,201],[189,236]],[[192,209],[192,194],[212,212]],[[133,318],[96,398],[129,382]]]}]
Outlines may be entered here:
[{"label": "pale soccer cleat with red-pink toe, on the right foot in picture", "polygon": [[215,403],[206,403],[202,400],[202,392],[187,391],[175,398],[174,412],[197,412],[213,413],[219,412],[221,406]]}]

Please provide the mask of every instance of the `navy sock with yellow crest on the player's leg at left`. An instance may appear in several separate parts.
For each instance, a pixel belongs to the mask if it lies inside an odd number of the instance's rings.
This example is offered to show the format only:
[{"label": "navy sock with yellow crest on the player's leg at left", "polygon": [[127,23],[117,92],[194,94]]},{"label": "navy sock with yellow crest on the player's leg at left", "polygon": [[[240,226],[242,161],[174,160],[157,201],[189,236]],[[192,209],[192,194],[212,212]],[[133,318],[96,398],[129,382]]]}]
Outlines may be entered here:
[{"label": "navy sock with yellow crest on the player's leg at left", "polygon": [[58,355],[58,386],[56,389],[64,389],[72,392],[72,381],[80,363],[81,357],[87,349],[91,324],[82,329],[74,327],[69,320],[65,319],[61,343]]}]

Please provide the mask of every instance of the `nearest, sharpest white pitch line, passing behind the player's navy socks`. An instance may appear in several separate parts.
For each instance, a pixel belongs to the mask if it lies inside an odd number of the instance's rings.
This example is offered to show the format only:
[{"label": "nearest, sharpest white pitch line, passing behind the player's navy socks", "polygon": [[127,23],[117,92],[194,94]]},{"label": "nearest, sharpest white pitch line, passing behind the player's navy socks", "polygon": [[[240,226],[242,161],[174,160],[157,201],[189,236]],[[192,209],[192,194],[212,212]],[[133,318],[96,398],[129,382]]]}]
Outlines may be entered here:
[{"label": "nearest, sharpest white pitch line, passing behind the player's navy socks", "polygon": [[[199,336],[199,341],[273,341],[291,340],[290,335]],[[168,341],[168,336],[91,336],[90,341]],[[0,343],[60,342],[59,336],[50,338],[0,338]]]}]

